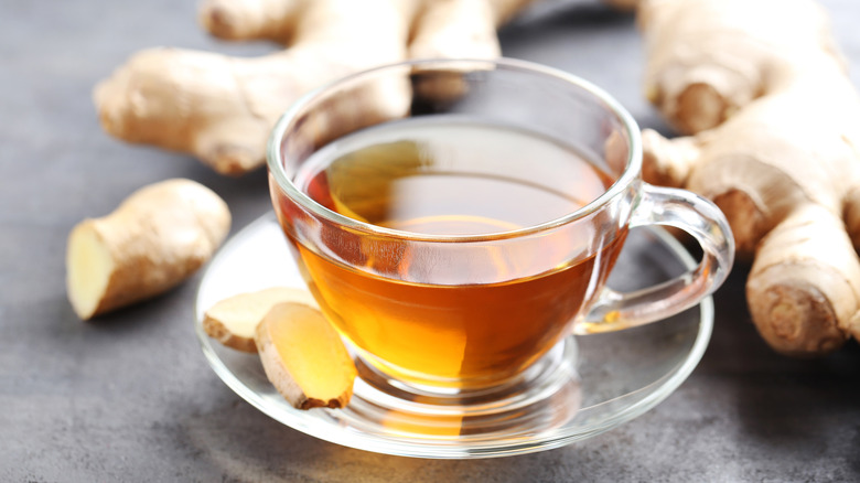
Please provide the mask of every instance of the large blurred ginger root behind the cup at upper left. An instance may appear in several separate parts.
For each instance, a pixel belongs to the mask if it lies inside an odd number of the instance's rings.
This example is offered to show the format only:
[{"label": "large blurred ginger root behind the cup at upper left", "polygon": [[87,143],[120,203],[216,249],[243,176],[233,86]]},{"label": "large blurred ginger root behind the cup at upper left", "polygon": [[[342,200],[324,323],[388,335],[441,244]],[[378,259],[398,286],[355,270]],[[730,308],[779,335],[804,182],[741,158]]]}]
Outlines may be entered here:
[{"label": "large blurred ginger root behind the cup at upper left", "polygon": [[225,39],[290,45],[257,58],[155,49],[95,90],[101,125],[129,142],[196,155],[224,174],[264,163],[266,138],[300,95],[409,57],[499,54],[495,29],[531,0],[208,0],[201,22]]}]

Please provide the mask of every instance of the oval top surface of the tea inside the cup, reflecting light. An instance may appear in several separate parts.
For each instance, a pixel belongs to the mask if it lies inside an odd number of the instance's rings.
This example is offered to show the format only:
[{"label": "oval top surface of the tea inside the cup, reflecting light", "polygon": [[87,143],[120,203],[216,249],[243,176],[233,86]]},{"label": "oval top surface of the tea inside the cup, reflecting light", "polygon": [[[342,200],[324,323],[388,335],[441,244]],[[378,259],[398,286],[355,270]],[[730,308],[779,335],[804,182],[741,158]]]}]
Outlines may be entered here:
[{"label": "oval top surface of the tea inside the cup, reflecting light", "polygon": [[611,184],[574,151],[472,124],[376,128],[320,152],[299,187],[343,215],[405,232],[477,235],[572,213]]}]

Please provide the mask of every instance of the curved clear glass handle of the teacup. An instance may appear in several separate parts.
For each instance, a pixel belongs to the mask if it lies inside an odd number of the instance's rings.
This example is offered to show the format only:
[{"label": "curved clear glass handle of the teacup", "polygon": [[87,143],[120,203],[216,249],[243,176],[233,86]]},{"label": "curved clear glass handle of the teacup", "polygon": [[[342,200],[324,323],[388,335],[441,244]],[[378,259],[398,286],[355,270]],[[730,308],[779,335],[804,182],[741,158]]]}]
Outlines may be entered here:
[{"label": "curved clear glass handle of the teacup", "polygon": [[632,292],[603,288],[574,334],[612,332],[666,319],[699,303],[722,285],[734,261],[734,238],[720,208],[686,190],[642,183],[630,227],[667,225],[680,228],[701,245],[699,266],[671,280]]}]

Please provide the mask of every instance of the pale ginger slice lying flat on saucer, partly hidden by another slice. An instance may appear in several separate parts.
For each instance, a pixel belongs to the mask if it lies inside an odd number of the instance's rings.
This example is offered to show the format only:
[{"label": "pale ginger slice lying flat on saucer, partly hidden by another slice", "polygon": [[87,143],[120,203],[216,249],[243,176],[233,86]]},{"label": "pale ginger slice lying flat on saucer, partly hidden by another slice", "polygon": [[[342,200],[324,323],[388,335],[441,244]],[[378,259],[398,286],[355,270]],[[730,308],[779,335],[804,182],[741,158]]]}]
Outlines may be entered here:
[{"label": "pale ginger slice lying flat on saucer, partly hidden by another slice", "polygon": [[254,333],[257,325],[272,307],[284,302],[316,307],[316,301],[307,290],[273,287],[239,293],[212,305],[204,314],[203,330],[227,347],[256,353]]}]

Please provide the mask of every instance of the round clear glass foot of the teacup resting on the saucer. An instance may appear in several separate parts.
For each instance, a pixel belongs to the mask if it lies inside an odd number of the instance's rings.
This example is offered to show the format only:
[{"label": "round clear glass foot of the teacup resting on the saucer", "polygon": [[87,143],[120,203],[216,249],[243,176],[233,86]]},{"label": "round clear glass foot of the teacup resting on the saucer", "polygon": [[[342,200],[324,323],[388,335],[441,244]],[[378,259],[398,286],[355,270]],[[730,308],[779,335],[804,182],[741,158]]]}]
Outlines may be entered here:
[{"label": "round clear glass foot of the teacup resting on the saucer", "polygon": [[454,394],[393,379],[356,357],[348,411],[398,436],[492,441],[563,426],[581,405],[577,343],[568,337],[504,385]]}]

